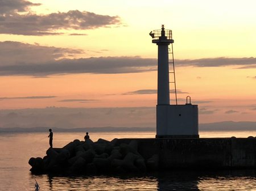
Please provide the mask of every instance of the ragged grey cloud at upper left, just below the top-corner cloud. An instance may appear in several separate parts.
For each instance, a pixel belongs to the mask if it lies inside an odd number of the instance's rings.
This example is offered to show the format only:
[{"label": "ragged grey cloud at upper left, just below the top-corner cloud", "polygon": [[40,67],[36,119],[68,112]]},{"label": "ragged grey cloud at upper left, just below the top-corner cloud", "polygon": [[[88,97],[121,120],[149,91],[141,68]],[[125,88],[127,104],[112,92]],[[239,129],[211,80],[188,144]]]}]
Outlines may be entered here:
[{"label": "ragged grey cloud at upper left, just below the top-corner cloud", "polygon": [[[60,29],[85,30],[119,24],[121,22],[118,16],[98,15],[79,10],[48,15],[0,14],[0,33],[13,35],[61,35],[63,33],[58,32]],[[71,35],[81,34],[72,33]]]}]

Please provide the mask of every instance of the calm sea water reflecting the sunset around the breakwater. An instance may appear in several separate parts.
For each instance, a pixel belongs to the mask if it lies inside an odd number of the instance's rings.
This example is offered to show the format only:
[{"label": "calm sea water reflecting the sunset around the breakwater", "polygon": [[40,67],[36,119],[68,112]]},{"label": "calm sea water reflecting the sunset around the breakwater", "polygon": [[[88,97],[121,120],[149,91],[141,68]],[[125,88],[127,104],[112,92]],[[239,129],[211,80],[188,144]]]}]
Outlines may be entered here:
[{"label": "calm sea water reflecting the sunset around the breakwater", "polygon": [[[248,137],[256,131],[200,132],[200,137]],[[0,190],[34,190],[35,179],[40,190],[256,190],[256,172],[247,171],[172,171],[138,177],[79,176],[51,177],[31,175],[28,160],[43,157],[48,149],[48,132],[0,134]],[[154,138],[155,132],[90,133],[97,141],[104,138]],[[53,147],[63,147],[81,133],[55,133]]]}]

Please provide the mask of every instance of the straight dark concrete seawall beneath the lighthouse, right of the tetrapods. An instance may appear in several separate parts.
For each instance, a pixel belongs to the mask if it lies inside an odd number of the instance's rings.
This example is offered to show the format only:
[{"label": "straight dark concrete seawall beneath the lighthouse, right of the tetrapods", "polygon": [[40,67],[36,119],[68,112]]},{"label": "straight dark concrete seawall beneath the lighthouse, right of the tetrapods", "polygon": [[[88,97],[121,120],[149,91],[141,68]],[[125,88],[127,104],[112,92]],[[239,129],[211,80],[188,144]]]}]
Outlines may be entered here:
[{"label": "straight dark concrete seawall beneath the lighthouse, right of the tetrapods", "polygon": [[[159,169],[256,168],[256,138],[253,137],[135,140],[143,158],[159,156]],[[130,139],[118,141],[126,143]]]}]

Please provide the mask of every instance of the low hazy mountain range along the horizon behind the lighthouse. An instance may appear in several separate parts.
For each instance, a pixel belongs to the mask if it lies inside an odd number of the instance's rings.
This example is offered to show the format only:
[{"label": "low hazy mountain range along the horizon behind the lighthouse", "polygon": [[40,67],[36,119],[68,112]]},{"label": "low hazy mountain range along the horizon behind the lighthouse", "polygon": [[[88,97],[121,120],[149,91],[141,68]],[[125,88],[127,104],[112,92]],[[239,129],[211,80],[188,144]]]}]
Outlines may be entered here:
[{"label": "low hazy mountain range along the horizon behind the lighthouse", "polygon": [[[36,128],[0,128],[0,133],[25,133],[25,132],[46,132],[49,128],[47,127],[36,127]],[[155,128],[125,128],[125,127],[101,127],[101,128],[52,128],[55,132],[108,132],[108,131],[155,131]],[[243,130],[256,130],[256,122],[250,121],[222,121],[213,122],[208,124],[200,124],[200,131],[243,131]]]}]

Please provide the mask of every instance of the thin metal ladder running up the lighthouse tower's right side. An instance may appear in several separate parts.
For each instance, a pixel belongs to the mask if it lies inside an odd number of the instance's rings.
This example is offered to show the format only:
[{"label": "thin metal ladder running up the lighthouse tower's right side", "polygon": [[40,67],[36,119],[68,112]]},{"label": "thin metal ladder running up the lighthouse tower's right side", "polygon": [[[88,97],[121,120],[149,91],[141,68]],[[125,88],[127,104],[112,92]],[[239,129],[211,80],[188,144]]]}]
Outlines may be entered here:
[{"label": "thin metal ladder running up the lighthouse tower's right side", "polygon": [[172,45],[172,43],[171,43],[171,48],[169,48],[168,63],[169,63],[169,83],[170,85],[174,84],[174,86],[171,86],[172,88],[170,89],[170,94],[175,94],[175,101],[177,105],[177,89],[176,89],[175,66],[174,66],[174,46]]}]

